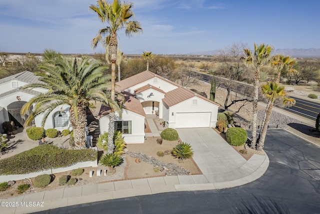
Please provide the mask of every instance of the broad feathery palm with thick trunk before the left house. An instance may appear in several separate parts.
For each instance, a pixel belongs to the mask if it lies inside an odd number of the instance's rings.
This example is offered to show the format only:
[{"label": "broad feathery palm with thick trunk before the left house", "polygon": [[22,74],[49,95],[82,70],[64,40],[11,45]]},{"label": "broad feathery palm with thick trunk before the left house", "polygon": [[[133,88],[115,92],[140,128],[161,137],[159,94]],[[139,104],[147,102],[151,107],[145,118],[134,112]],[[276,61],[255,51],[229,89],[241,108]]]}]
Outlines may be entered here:
[{"label": "broad feathery palm with thick trunk before the left house", "polygon": [[70,106],[70,124],[73,130],[76,148],[86,147],[85,126],[87,124],[85,109],[89,101],[98,101],[119,109],[118,105],[110,100],[110,77],[103,75],[98,61],[82,58],[79,61],[64,57],[52,63],[40,66],[42,72],[35,73],[41,83],[32,83],[22,88],[42,88],[47,92],[31,98],[21,109],[21,115],[29,111],[33,105],[33,112],[25,121],[29,124],[36,116],[43,114],[42,127],[51,111],[59,105]]}]

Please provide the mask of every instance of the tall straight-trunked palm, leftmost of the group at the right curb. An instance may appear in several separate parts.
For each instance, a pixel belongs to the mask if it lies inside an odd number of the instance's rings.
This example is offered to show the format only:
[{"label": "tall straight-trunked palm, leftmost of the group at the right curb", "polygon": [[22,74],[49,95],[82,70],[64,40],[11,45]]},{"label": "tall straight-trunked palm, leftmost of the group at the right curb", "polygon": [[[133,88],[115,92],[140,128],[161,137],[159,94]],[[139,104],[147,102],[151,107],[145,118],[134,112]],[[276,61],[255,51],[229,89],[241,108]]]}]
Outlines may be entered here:
[{"label": "tall straight-trunked palm, leftmost of the group at the right curb", "polygon": [[254,52],[252,54],[250,49],[243,49],[244,62],[255,68],[253,76],[253,101],[252,101],[252,132],[251,132],[251,148],[256,145],[256,126],[257,126],[257,106],[259,98],[259,82],[260,82],[260,68],[267,65],[273,47],[265,44],[259,46],[254,43]]}]

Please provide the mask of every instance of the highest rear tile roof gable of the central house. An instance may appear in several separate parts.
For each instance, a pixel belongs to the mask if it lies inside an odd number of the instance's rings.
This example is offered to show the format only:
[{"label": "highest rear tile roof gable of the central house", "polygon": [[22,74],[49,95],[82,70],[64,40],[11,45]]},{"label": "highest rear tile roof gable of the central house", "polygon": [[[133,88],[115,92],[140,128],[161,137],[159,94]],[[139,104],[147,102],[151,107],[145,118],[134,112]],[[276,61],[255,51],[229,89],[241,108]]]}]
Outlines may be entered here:
[{"label": "highest rear tile roof gable of the central house", "polygon": [[175,85],[177,87],[180,87],[179,84],[175,83],[175,82],[172,82],[168,79],[165,79],[164,77],[161,77],[159,75],[156,75],[150,71],[143,71],[141,73],[138,73],[136,75],[133,75],[131,77],[128,77],[124,80],[121,80],[120,82],[118,82],[117,84],[122,88],[122,90],[125,90],[127,88],[130,88],[132,86],[135,86],[136,84],[139,84],[139,83],[143,83],[144,81],[147,81],[151,78],[154,78],[154,77],[157,77],[161,80],[164,80],[172,85]]}]

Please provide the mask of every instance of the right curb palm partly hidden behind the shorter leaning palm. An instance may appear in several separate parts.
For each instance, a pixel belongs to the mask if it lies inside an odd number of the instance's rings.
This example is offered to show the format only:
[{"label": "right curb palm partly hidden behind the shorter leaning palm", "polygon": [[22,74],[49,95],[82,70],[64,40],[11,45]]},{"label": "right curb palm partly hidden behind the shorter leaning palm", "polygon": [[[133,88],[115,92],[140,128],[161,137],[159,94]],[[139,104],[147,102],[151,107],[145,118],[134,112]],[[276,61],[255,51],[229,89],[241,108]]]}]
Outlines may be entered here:
[{"label": "right curb palm partly hidden behind the shorter leaning palm", "polygon": [[[275,74],[275,78],[274,78],[274,82],[275,83],[279,83],[280,81],[280,76],[283,73],[292,73],[295,72],[295,69],[292,69],[292,66],[295,64],[295,60],[293,60],[292,58],[290,58],[289,56],[282,56],[282,55],[275,55],[271,58],[270,61],[270,65],[271,67],[274,68],[276,74]],[[270,108],[272,108],[272,106],[267,105],[266,106],[266,111],[272,111],[270,110]],[[265,114],[264,117],[262,119],[262,123],[261,123],[261,130],[263,129],[263,126],[267,124],[265,123]],[[261,132],[260,132],[261,134]]]}]

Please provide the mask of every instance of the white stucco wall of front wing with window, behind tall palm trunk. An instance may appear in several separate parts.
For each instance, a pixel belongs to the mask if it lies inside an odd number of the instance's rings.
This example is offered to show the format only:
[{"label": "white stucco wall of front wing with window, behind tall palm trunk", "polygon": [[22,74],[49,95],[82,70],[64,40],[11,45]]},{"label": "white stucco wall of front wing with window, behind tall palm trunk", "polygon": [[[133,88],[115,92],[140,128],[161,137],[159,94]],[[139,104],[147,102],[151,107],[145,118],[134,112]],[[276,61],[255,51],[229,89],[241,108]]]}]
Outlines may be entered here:
[{"label": "white stucco wall of front wing with window, behind tall palm trunk", "polygon": [[[126,143],[144,143],[144,116],[121,109],[122,117],[116,113],[114,121],[131,121],[131,134],[122,134]],[[99,119],[100,133],[108,132],[109,115]]]}]

